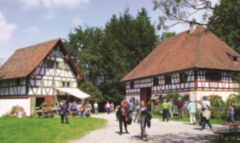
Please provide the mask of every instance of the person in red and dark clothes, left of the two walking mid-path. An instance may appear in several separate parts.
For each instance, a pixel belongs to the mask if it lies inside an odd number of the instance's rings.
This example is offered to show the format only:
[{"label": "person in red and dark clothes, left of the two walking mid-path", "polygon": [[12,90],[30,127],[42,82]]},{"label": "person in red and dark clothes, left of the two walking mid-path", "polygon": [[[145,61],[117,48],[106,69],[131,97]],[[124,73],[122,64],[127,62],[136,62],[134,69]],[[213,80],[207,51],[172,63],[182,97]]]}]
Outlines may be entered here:
[{"label": "person in red and dark clothes, left of the two walking mid-path", "polygon": [[127,108],[124,105],[125,103],[122,101],[121,105],[118,108],[117,111],[117,118],[119,121],[119,134],[122,135],[122,126],[124,125],[125,131],[128,134],[128,130],[127,130],[127,122],[128,122],[128,115],[127,115]]}]

